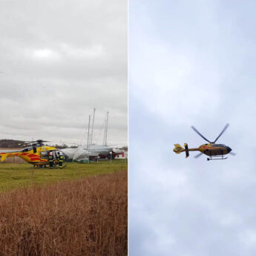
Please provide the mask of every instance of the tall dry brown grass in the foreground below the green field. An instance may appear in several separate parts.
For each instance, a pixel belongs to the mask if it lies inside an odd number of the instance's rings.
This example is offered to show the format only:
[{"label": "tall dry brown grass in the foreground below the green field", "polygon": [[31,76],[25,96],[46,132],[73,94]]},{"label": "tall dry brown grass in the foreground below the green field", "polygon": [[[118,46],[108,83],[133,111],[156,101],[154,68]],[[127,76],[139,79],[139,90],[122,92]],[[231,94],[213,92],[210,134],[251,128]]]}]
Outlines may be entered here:
[{"label": "tall dry brown grass in the foreground below the green field", "polygon": [[127,255],[127,171],[0,195],[0,255]]}]

